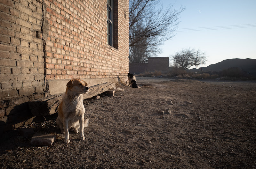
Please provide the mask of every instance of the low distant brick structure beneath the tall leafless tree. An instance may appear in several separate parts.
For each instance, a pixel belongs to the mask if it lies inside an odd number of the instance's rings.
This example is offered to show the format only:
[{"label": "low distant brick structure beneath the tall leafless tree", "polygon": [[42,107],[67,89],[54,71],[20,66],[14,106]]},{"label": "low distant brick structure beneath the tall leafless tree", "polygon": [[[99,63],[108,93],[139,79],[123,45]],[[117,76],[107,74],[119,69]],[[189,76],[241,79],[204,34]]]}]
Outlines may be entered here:
[{"label": "low distant brick structure beneath the tall leafless tree", "polygon": [[129,63],[129,72],[140,74],[145,72],[169,71],[169,57],[148,57],[148,63]]}]

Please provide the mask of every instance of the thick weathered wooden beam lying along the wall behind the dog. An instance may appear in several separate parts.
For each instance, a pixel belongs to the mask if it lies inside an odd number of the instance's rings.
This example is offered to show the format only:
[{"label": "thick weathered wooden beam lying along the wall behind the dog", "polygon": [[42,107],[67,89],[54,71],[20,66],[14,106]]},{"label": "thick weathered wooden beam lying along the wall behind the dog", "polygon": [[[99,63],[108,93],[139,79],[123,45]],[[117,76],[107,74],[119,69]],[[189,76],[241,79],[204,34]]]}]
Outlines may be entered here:
[{"label": "thick weathered wooden beam lying along the wall behind the dog", "polygon": [[[91,98],[115,87],[115,83],[107,82],[89,87],[89,91],[83,95],[84,99]],[[28,103],[30,111],[35,116],[45,116],[57,112],[64,93],[36,99]]]}]

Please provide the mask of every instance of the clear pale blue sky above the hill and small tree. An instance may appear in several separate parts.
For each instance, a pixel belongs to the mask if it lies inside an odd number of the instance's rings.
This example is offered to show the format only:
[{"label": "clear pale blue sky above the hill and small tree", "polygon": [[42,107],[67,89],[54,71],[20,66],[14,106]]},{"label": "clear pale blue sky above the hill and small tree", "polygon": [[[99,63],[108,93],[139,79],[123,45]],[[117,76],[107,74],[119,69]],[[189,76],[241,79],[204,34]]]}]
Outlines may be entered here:
[{"label": "clear pale blue sky above the hill and small tree", "polygon": [[208,56],[204,67],[225,59],[256,59],[256,0],[163,0],[168,4],[186,10],[180,14],[176,35],[165,41],[158,57],[194,48]]}]

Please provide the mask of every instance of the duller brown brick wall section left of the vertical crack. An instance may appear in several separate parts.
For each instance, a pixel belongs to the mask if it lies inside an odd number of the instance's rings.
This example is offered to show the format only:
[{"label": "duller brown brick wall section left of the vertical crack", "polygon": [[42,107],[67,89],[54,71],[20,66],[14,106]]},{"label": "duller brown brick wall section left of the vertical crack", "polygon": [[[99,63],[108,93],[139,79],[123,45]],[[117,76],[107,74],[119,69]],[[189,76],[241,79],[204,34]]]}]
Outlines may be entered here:
[{"label": "duller brown brick wall section left of the vertical crack", "polygon": [[42,4],[1,0],[0,9],[1,99],[43,92],[43,41],[36,38],[36,31],[41,31]]}]

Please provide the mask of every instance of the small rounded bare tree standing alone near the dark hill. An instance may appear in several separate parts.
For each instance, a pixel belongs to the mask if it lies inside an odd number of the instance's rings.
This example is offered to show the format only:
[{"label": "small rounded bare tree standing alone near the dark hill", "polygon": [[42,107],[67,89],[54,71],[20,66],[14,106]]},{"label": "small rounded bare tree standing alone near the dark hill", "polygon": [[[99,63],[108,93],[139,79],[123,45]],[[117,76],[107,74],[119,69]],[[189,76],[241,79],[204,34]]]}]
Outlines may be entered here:
[{"label": "small rounded bare tree standing alone near the dark hill", "polygon": [[181,69],[189,69],[191,66],[200,66],[207,61],[204,52],[195,49],[182,49],[172,56],[173,66]]}]

